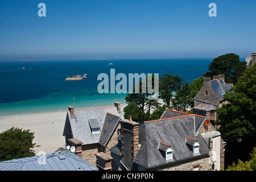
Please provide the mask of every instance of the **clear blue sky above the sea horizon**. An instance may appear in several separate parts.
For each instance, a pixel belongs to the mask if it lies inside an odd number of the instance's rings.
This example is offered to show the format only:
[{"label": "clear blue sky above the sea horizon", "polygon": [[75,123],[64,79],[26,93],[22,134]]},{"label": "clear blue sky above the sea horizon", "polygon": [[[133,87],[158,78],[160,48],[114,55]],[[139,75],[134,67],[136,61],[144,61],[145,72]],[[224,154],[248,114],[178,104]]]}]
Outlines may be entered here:
[{"label": "clear blue sky above the sea horizon", "polygon": [[0,60],[245,57],[256,52],[255,9],[255,0],[0,0]]}]

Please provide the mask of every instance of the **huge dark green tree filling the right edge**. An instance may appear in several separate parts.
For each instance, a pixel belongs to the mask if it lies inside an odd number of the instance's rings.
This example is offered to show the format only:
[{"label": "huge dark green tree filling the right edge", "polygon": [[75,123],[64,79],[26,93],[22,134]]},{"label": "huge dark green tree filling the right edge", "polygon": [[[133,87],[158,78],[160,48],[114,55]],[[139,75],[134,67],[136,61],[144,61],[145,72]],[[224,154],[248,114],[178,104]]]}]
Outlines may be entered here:
[{"label": "huge dark green tree filling the right edge", "polygon": [[222,138],[228,143],[226,159],[247,160],[256,146],[256,65],[245,70],[238,83],[226,94],[223,104],[217,109],[217,125]]}]

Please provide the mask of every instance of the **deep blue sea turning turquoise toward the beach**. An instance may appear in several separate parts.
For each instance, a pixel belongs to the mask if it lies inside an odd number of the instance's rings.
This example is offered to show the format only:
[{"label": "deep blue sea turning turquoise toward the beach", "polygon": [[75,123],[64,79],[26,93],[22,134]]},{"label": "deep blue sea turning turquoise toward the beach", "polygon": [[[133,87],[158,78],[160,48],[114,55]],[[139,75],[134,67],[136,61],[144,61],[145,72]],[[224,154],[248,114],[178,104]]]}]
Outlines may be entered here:
[{"label": "deep blue sea turning turquoise toward the beach", "polygon": [[[191,82],[208,71],[213,59],[126,59],[55,60],[0,62],[0,115],[67,110],[125,103],[126,94],[100,94],[100,73],[164,73],[179,75]],[[113,63],[110,65],[110,63]],[[22,68],[25,69],[22,69]],[[66,81],[73,75],[87,74],[80,81]],[[110,78],[110,76],[109,76]],[[117,83],[116,81],[115,83]],[[75,102],[73,104],[73,97]]]}]

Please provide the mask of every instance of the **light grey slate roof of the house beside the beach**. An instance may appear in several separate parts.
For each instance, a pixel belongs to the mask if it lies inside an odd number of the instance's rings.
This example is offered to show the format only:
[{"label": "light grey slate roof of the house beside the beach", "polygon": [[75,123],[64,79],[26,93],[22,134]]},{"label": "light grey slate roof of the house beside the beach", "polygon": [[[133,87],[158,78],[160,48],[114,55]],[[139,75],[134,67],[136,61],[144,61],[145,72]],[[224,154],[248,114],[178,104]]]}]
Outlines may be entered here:
[{"label": "light grey slate roof of the house beside the beach", "polygon": [[[106,138],[109,138],[110,130],[113,131],[112,128],[117,127],[119,119],[123,119],[122,111],[118,113],[115,106],[74,110],[74,114],[75,117],[72,118],[68,111],[66,122],[69,121],[70,123],[73,138],[81,140],[82,145],[99,142],[105,144]],[[112,123],[105,122],[106,119],[112,119]],[[65,123],[63,136],[65,136],[67,126]],[[91,127],[100,127],[100,133],[93,134]]]}]

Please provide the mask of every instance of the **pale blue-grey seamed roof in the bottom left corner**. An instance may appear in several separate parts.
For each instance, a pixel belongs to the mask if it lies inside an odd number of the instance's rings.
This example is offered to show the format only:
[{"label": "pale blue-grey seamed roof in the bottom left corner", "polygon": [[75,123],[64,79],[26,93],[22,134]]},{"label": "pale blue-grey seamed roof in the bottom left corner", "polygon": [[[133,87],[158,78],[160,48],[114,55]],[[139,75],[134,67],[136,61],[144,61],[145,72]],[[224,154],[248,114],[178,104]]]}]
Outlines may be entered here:
[{"label": "pale blue-grey seamed roof in the bottom left corner", "polygon": [[[42,158],[45,157],[45,158]],[[40,161],[41,163],[39,163]],[[45,162],[45,163],[44,163]],[[45,156],[13,159],[0,162],[1,171],[98,171],[71,151],[55,152]]]}]

